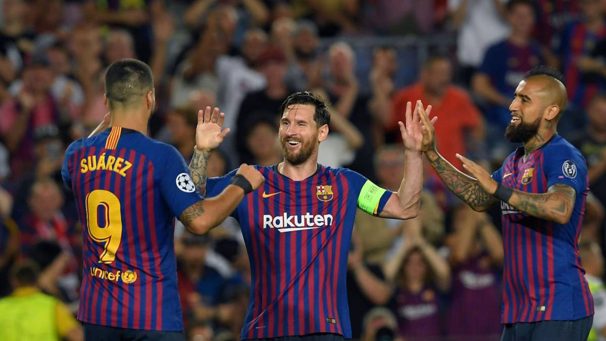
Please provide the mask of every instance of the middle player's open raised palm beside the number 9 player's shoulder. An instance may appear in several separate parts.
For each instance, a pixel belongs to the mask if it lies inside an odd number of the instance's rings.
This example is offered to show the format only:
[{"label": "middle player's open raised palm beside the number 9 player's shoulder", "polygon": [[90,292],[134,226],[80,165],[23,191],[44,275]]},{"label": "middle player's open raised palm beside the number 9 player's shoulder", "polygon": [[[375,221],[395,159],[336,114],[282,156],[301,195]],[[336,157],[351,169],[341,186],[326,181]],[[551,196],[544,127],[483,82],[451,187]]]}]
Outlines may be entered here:
[{"label": "middle player's open raised palm beside the number 9 player's shoulder", "polygon": [[225,113],[219,113],[219,108],[210,112],[210,107],[206,110],[198,111],[198,126],[196,127],[196,148],[205,152],[211,152],[219,146],[229,132],[229,128],[221,130]]}]

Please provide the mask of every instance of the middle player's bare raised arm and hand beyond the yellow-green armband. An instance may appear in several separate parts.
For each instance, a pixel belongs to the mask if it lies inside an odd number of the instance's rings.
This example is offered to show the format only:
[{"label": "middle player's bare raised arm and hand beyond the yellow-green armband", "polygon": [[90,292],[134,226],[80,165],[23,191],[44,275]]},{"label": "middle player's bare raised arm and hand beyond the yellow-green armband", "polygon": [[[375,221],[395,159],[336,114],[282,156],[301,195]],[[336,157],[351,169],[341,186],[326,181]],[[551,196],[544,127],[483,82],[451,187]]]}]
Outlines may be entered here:
[{"label": "middle player's bare raised arm and hand beyond the yellow-green armband", "polygon": [[[431,112],[431,106],[427,107]],[[385,207],[379,214],[382,218],[414,218],[419,213],[421,190],[423,188],[423,160],[421,143],[423,125],[419,116],[425,116],[425,124],[433,124],[427,118],[421,101],[417,101],[415,112],[411,113],[411,103],[406,105],[406,124],[399,122],[402,141],[406,149],[404,177],[398,192],[391,194]]]}]

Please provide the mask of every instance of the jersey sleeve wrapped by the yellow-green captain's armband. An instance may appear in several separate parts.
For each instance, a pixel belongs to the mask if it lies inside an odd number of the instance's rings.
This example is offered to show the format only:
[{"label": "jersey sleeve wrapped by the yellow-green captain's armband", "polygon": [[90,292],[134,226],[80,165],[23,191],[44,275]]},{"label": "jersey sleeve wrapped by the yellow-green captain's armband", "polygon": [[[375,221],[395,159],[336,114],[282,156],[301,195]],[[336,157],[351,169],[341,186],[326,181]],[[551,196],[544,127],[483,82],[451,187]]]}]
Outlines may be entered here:
[{"label": "jersey sleeve wrapped by the yellow-green captain's armband", "polygon": [[349,169],[344,172],[353,194],[358,195],[358,208],[368,214],[379,215],[393,192],[377,186],[358,172]]}]

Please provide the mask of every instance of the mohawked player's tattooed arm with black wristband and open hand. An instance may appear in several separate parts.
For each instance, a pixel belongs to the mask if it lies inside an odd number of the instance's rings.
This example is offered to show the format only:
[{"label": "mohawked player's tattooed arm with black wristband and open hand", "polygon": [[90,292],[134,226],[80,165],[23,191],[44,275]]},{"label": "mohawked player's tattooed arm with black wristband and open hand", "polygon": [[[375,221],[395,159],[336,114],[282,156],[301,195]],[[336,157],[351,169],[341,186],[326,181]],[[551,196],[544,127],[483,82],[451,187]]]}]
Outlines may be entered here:
[{"label": "mohawked player's tattooed arm with black wristband and open hand", "polygon": [[[485,193],[494,194],[502,201],[533,217],[555,221],[558,224],[568,223],[574,209],[576,191],[568,184],[557,183],[549,187],[547,193],[534,194],[501,186],[481,166],[457,154],[463,167],[469,170]],[[492,195],[491,195],[492,196]],[[498,200],[495,196],[493,198]]]}]

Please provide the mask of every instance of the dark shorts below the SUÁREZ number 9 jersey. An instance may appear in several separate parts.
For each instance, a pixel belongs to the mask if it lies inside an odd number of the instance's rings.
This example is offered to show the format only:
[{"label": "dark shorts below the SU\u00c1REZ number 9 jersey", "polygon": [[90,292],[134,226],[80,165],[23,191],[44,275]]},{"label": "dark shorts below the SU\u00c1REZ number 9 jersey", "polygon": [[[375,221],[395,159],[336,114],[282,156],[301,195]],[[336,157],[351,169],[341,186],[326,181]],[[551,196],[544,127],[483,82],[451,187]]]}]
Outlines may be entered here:
[{"label": "dark shorts below the SU\u00c1REZ number 9 jersey", "polygon": [[108,327],[82,323],[84,341],[185,341],[182,331]]}]

